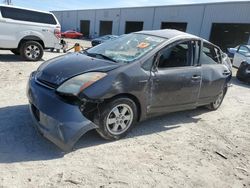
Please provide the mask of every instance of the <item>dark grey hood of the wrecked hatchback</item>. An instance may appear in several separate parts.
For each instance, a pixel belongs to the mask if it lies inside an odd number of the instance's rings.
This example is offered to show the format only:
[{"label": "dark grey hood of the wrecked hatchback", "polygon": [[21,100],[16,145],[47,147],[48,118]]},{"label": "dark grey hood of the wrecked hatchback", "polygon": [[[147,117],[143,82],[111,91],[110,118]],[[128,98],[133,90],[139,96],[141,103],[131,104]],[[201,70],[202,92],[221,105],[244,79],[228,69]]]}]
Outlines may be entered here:
[{"label": "dark grey hood of the wrecked hatchback", "polygon": [[108,72],[119,67],[111,61],[97,59],[81,53],[70,53],[43,63],[36,78],[53,86],[59,86],[67,79],[85,72]]}]

